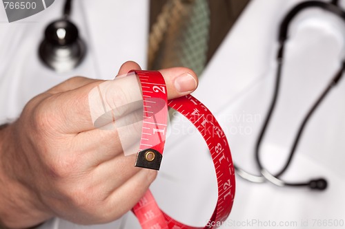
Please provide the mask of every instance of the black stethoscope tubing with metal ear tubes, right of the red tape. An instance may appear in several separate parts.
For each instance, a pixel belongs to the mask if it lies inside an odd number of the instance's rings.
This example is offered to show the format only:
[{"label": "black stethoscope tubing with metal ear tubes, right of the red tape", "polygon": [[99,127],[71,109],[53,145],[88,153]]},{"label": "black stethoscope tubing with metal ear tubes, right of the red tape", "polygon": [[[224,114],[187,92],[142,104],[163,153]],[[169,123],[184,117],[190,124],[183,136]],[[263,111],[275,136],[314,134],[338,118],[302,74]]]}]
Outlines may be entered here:
[{"label": "black stethoscope tubing with metal ear tubes, right of the red tape", "polygon": [[264,138],[264,134],[266,132],[268,122],[272,116],[273,110],[275,109],[275,105],[277,102],[277,96],[279,91],[279,85],[280,85],[280,78],[282,74],[282,67],[284,63],[284,45],[286,42],[286,39],[288,39],[288,26],[290,25],[290,22],[295,18],[295,16],[302,12],[302,10],[306,10],[308,8],[322,8],[328,12],[332,12],[333,14],[337,15],[341,19],[345,21],[345,12],[339,8],[338,1],[333,0],[331,3],[326,3],[322,1],[305,1],[303,3],[299,3],[297,6],[295,6],[288,14],[286,14],[286,17],[282,21],[280,28],[279,28],[279,50],[277,52],[277,72],[276,72],[276,79],[275,79],[275,90],[273,94],[273,98],[270,102],[270,107],[268,109],[268,113],[266,116],[266,119],[264,121],[264,126],[262,127],[259,138],[257,138],[257,142],[255,145],[255,161],[259,168],[259,171],[261,175],[253,175],[250,174],[243,169],[239,168],[238,166],[235,166],[235,169],[237,171],[237,175],[240,177],[255,183],[263,183],[263,182],[271,182],[277,186],[293,186],[293,187],[303,187],[308,186],[311,189],[315,190],[324,190],[327,187],[327,181],[324,178],[317,178],[317,179],[311,179],[308,182],[286,182],[284,179],[281,179],[280,177],[285,173],[286,169],[290,165],[291,160],[293,159],[293,155],[295,155],[295,150],[297,148],[297,145],[299,143],[299,139],[304,131],[304,127],[306,126],[306,123],[308,122],[309,118],[313,115],[315,109],[319,106],[319,104],[322,102],[322,100],[326,97],[329,91],[337,85],[340,78],[342,78],[342,74],[345,69],[345,60],[342,61],[342,67],[338,70],[337,74],[333,76],[331,82],[327,85],[326,89],[322,92],[322,94],[317,98],[316,102],[313,104],[311,109],[308,111],[306,116],[304,117],[302,124],[299,126],[298,133],[295,136],[295,140],[293,141],[293,146],[290,149],[290,154],[288,157],[288,160],[286,161],[284,167],[279,171],[277,174],[270,173],[264,166],[262,166],[262,162],[259,157],[259,149],[260,145],[262,143],[262,138]]}]

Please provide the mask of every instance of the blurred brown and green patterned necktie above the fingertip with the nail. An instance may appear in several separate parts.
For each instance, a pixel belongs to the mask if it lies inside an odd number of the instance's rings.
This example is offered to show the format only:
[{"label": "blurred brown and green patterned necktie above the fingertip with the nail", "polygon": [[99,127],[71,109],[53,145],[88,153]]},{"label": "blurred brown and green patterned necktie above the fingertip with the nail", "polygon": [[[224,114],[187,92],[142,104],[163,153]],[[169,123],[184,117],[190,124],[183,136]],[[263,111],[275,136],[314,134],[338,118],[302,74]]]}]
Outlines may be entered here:
[{"label": "blurred brown and green patterned necktie above the fingertip with the nail", "polygon": [[206,65],[208,0],[168,0],[149,37],[148,69],[184,66],[199,75]]}]

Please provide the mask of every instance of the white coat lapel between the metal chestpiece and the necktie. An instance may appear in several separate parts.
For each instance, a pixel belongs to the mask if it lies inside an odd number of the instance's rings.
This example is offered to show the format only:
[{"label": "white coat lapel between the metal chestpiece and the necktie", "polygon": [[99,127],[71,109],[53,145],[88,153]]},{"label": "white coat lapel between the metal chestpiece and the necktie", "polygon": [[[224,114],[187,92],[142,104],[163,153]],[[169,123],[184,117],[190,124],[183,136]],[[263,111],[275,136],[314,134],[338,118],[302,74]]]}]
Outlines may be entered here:
[{"label": "white coat lapel between the metal chestpiece and the necktie", "polygon": [[113,78],[121,64],[129,60],[146,67],[148,0],[88,0],[83,6],[99,78]]}]

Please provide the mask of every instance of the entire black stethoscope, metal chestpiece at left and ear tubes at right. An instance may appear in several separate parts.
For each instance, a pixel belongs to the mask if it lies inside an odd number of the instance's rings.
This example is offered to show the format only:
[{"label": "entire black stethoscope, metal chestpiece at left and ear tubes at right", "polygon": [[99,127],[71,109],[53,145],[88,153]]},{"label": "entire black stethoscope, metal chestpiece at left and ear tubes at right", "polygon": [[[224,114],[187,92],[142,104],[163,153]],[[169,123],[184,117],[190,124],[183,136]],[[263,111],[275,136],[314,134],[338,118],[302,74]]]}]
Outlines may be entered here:
[{"label": "entire black stethoscope, metal chestpiece at left and ear tubes at right", "polygon": [[[48,67],[54,69],[57,72],[67,72],[71,69],[74,69],[81,63],[83,57],[86,54],[86,45],[79,38],[77,27],[68,20],[68,18],[70,17],[71,2],[72,0],[66,0],[65,2],[65,6],[63,8],[63,19],[53,21],[48,25],[45,31],[45,39],[42,41],[39,47],[39,56],[41,58],[41,61],[43,61],[43,63],[45,63]],[[326,3],[323,1],[305,1],[303,3],[299,3],[292,10],[290,10],[290,12],[286,14],[286,17],[282,21],[279,28],[278,36],[279,50],[277,52],[278,66],[276,72],[275,90],[272,101],[270,103],[270,107],[268,109],[268,114],[264,122],[264,126],[259,133],[259,138],[257,138],[255,146],[255,160],[261,175],[250,174],[244,171],[242,168],[235,166],[237,175],[239,175],[240,177],[255,183],[263,183],[268,181],[277,186],[308,186],[309,188],[315,190],[324,190],[327,187],[327,182],[324,178],[311,179],[308,182],[285,182],[280,177],[286,172],[288,166],[290,166],[290,162],[293,159],[293,155],[295,155],[295,150],[299,143],[299,139],[309,118],[311,118],[315,109],[319,106],[328,92],[338,83],[338,81],[342,77],[345,69],[345,60],[343,61],[342,67],[339,69],[337,74],[335,74],[331,82],[327,85],[326,89],[324,89],[322,94],[319,96],[319,98],[317,98],[316,102],[304,117],[304,120],[302,121],[302,124],[300,125],[298,133],[293,142],[293,147],[290,149],[288,160],[286,161],[286,164],[281,169],[281,171],[279,171],[279,173],[273,175],[266,168],[264,168],[264,166],[262,166],[262,162],[259,157],[259,148],[277,102],[284,60],[284,45],[286,39],[288,39],[288,27],[290,25],[290,22],[299,12],[302,12],[302,10],[306,10],[308,8],[322,8],[324,10],[327,10],[328,12],[332,12],[345,21],[345,12],[341,8],[339,8],[337,3],[337,0],[333,0],[331,1],[331,3]]]}]

